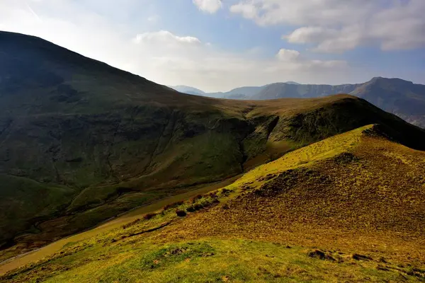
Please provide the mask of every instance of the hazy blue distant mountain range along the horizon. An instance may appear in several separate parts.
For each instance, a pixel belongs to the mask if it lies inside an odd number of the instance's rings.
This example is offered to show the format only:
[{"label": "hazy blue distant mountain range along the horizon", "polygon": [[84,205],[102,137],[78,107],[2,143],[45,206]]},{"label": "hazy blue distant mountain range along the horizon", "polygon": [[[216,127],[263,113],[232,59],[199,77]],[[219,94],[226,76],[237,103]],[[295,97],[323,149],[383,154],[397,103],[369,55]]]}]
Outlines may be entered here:
[{"label": "hazy blue distant mountain range along the horizon", "polygon": [[317,98],[336,93],[348,93],[358,96],[387,112],[392,112],[419,127],[425,128],[425,85],[375,77],[365,83],[341,84],[300,84],[293,81],[271,83],[266,86],[246,86],[234,88],[225,93],[190,93],[190,87],[171,87],[177,91],[214,98],[268,100],[277,98]]}]

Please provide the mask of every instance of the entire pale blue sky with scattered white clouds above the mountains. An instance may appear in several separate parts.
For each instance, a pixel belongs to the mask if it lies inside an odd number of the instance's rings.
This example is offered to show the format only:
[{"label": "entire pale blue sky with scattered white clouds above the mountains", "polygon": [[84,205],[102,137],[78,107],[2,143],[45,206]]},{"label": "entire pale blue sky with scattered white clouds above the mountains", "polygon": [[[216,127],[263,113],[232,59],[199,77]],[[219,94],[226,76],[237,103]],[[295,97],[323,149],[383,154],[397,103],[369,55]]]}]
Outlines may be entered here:
[{"label": "entire pale blue sky with scattered white clouds above the mountains", "polygon": [[0,30],[168,86],[425,83],[425,0],[0,0]]}]

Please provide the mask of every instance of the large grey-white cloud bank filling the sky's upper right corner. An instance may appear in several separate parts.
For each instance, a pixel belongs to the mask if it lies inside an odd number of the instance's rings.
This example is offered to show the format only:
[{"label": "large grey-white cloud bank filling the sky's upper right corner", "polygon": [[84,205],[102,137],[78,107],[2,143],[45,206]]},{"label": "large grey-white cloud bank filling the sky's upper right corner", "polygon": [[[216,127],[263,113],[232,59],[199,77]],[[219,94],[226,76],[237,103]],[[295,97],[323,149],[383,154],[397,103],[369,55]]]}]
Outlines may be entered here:
[{"label": "large grey-white cloud bank filling the sky's upper right corner", "polygon": [[297,27],[283,38],[312,44],[317,52],[345,52],[360,46],[425,47],[423,0],[244,0],[230,11],[262,26]]}]

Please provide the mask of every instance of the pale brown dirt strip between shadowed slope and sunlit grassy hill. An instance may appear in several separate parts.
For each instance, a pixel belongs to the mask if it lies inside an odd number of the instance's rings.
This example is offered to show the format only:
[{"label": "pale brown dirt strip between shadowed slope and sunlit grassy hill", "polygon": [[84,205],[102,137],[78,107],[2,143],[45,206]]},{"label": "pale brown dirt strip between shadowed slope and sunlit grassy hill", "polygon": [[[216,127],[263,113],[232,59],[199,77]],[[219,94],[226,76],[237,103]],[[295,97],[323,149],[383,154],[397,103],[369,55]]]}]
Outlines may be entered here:
[{"label": "pale brown dirt strip between shadowed slope and sunlit grassy hill", "polygon": [[195,195],[210,192],[212,190],[217,190],[220,187],[225,187],[226,185],[233,183],[234,180],[237,180],[237,178],[239,177],[241,177],[241,175],[234,176],[233,178],[229,178],[219,183],[208,184],[196,190],[185,192],[180,195],[166,197],[165,199],[159,200],[158,202],[154,202],[153,204],[148,204],[146,206],[139,207],[137,209],[132,209],[130,212],[127,212],[118,217],[115,217],[114,219],[111,219],[110,221],[106,223],[100,224],[89,231],[84,231],[84,232],[69,236],[67,238],[62,238],[59,241],[50,243],[47,246],[38,248],[37,250],[32,250],[28,253],[17,255],[14,258],[10,258],[8,260],[5,260],[4,262],[0,262],[0,275],[4,275],[4,273],[10,270],[21,267],[30,262],[41,260],[42,258],[45,258],[46,256],[52,255],[56,253],[57,251],[59,251],[67,243],[83,241],[87,238],[98,235],[98,233],[102,233],[102,232],[117,228],[126,223],[134,221],[137,218],[140,218],[140,216],[142,216],[143,214],[159,210],[162,207],[164,207],[166,204],[171,204],[179,200],[188,200],[189,198]]}]

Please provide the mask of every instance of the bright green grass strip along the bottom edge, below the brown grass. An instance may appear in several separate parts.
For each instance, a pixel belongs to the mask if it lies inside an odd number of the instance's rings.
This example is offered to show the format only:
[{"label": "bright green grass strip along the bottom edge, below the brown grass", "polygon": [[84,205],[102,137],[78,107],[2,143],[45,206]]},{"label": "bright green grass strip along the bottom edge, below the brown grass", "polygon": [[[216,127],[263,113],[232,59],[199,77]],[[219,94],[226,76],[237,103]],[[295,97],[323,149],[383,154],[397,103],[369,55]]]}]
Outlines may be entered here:
[{"label": "bright green grass strip along the bottom edge, below the brown grass", "polygon": [[[88,246],[52,259],[12,282],[418,282],[409,267],[355,260],[281,243],[220,240]],[[331,252],[327,252],[331,254]]]}]

